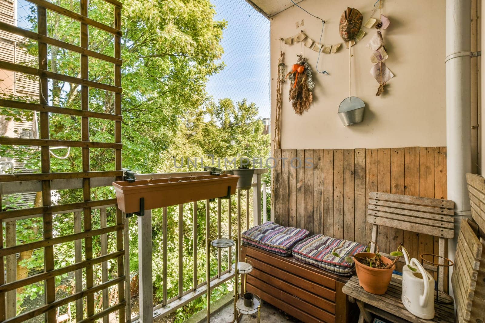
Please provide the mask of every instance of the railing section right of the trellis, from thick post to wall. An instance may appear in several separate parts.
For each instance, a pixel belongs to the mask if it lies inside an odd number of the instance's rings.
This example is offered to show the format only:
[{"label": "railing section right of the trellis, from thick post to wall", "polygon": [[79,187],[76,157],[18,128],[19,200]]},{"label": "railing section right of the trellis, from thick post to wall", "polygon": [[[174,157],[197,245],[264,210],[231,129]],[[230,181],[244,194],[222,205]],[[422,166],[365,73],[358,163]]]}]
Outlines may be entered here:
[{"label": "railing section right of the trellis, from thick post to wall", "polygon": [[[268,172],[268,169],[255,169],[255,174],[253,176],[253,223],[252,226],[261,224],[266,222],[267,213],[266,213],[266,183],[261,183],[261,174]],[[208,175],[210,172],[208,171],[201,171],[201,172],[182,172],[182,173],[160,173],[160,174],[139,174],[136,175],[136,179],[160,179],[160,178],[176,178],[182,176],[202,176]],[[245,198],[245,210],[246,214],[242,214],[242,193],[245,191],[244,196]],[[237,235],[238,241],[241,241],[241,232],[250,228],[250,208],[249,208],[249,189],[246,190],[237,190],[237,214],[236,214],[236,221],[237,221]],[[229,199],[229,206],[232,203],[232,199],[234,197],[231,196]],[[222,222],[221,222],[221,199],[217,199],[213,203],[217,203],[217,236],[220,237],[222,235]],[[206,241],[210,237],[211,233],[210,228],[210,201],[206,200]],[[194,224],[197,223],[197,207],[198,202],[193,203],[193,222]],[[178,294],[174,297],[168,298],[168,291],[167,291],[167,213],[168,208],[163,208],[163,223],[162,223],[162,253],[163,253],[163,273],[162,273],[162,294],[163,299],[161,304],[153,304],[153,282],[152,282],[152,241],[151,241],[151,232],[152,232],[152,213],[151,210],[146,210],[145,215],[139,217],[138,219],[138,270],[139,270],[139,306],[140,306],[140,314],[131,319],[132,322],[141,321],[143,323],[153,322],[154,318],[161,318],[163,316],[169,315],[176,311],[178,308],[185,306],[186,304],[190,303],[194,299],[204,295],[207,293],[207,279],[198,282],[198,274],[197,274],[197,226],[194,225],[193,229],[193,248],[194,248],[194,265],[191,266],[192,268],[184,268],[182,264],[183,258],[183,245],[181,240],[181,234],[179,234],[178,240]],[[228,235],[232,238],[232,222],[233,216],[231,212],[231,207],[228,207]],[[245,224],[246,228],[242,228],[242,216],[245,216]],[[182,232],[182,225],[183,225],[183,205],[178,206],[178,231]],[[252,227],[251,226],[251,227]],[[127,257],[128,258],[128,257]],[[231,271],[231,265],[233,262],[232,259],[232,250],[229,248],[228,251],[228,259],[227,259],[227,269],[222,270],[222,253],[219,249],[217,251],[217,274],[210,278],[210,289],[214,289],[217,286],[225,283],[232,277],[234,277],[234,272]],[[207,259],[206,259],[207,261]],[[129,267],[129,265],[127,265]],[[193,277],[194,281],[191,288],[184,290],[183,289],[183,277],[184,277],[184,270],[194,270]]]}]

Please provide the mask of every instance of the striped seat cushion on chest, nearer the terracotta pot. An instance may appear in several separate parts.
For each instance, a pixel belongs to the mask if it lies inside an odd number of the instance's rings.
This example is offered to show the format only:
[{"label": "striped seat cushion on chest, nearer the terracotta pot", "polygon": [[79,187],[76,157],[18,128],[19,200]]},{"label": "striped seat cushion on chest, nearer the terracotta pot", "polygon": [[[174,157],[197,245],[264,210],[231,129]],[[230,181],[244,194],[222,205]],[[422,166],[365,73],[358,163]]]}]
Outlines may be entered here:
[{"label": "striped seat cushion on chest, nearer the terracotta pot", "polygon": [[[358,242],[315,234],[293,247],[293,258],[341,276],[350,276],[355,264],[345,261],[345,257],[363,252],[365,248]],[[334,256],[333,252],[340,257]]]}]

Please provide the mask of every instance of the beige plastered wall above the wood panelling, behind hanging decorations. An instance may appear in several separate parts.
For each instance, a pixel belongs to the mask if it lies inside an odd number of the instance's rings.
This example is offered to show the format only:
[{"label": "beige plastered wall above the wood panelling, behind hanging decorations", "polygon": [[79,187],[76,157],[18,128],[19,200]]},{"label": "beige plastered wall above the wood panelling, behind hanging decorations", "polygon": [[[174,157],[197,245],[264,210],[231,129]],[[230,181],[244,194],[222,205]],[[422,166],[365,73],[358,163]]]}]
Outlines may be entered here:
[{"label": "beige plastered wall above the wood panelling, behind hanging decorations", "polygon": [[[339,18],[347,7],[355,7],[370,16],[374,1],[305,0],[301,6],[325,23],[322,43],[342,42]],[[364,28],[365,37],[352,47],[352,95],[366,103],[364,122],[344,127],[337,115],[340,102],[348,96],[348,49],[321,54],[319,68],[330,76],[314,73],[315,90],[311,108],[296,115],[288,101],[289,81],[283,89],[281,146],[293,149],[351,149],[405,146],[446,146],[445,105],[445,0],[384,1],[382,13],[391,20],[383,31],[389,58],[386,61],[395,77],[383,96],[376,97],[378,83],[370,74],[371,50],[366,44],[376,32]],[[378,15],[376,15],[378,16]],[[304,19],[304,26],[295,22]],[[301,29],[318,42],[322,23],[292,7],[271,18],[271,95],[272,129],[276,108],[276,78],[281,37],[290,37]],[[284,45],[287,72],[300,54],[300,44]],[[302,46],[314,70],[318,53]],[[271,131],[274,136],[274,131]]]}]

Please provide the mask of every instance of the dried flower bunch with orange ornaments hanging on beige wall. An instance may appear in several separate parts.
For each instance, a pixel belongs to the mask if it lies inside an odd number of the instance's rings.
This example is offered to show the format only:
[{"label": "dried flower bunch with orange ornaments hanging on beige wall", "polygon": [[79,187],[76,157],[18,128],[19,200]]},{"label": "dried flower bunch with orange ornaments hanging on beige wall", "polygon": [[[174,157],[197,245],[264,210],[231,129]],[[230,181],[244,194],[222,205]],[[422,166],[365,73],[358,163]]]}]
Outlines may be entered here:
[{"label": "dried flower bunch with orange ornaments hanging on beige wall", "polygon": [[298,61],[291,66],[291,72],[287,74],[290,78],[291,87],[289,101],[296,114],[302,115],[310,108],[313,102],[313,70],[307,62],[307,58],[298,55]]}]

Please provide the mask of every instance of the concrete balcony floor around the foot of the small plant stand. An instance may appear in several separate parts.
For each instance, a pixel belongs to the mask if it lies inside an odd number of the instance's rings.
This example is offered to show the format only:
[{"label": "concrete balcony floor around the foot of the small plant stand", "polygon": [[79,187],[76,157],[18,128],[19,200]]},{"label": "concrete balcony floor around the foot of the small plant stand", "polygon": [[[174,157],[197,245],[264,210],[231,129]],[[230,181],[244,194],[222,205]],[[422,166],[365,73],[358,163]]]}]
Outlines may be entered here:
[{"label": "concrete balcony floor around the foot of the small plant stand", "polygon": [[[233,303],[221,308],[217,313],[213,313],[210,317],[210,323],[226,323],[231,322],[234,317]],[[242,315],[240,323],[256,323],[258,322],[257,314],[254,315]],[[275,308],[269,303],[263,302],[261,306],[261,322],[264,323],[288,323],[288,322],[300,322],[291,317],[287,313]]]}]

